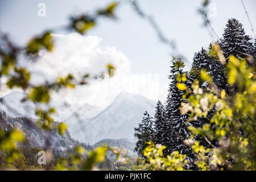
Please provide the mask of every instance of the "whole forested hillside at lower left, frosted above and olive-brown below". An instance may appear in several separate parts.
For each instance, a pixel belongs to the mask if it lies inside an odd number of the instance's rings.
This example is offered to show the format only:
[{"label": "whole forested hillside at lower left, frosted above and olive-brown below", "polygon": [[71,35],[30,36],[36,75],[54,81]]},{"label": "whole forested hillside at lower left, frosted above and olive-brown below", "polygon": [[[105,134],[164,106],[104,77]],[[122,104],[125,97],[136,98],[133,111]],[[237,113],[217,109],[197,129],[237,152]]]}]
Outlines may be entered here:
[{"label": "whole forested hillside at lower left, frosted above and olive-brown below", "polygon": [[[56,122],[55,126],[58,124]],[[18,143],[18,148],[23,151],[23,155],[19,156],[18,160],[9,164],[7,163],[8,156],[6,152],[0,151],[0,169],[42,169],[43,166],[38,163],[39,151],[48,151],[53,155],[51,164],[48,167],[49,169],[54,169],[57,159],[69,158],[69,152],[76,148],[76,146],[82,146],[86,150],[92,150],[93,148],[88,144],[74,140],[68,131],[64,135],[60,135],[56,127],[49,131],[41,130],[40,126],[36,124],[35,119],[10,117],[6,115],[5,111],[0,110],[0,130],[11,131],[14,127],[16,131],[22,131],[24,137],[26,137],[24,142]]]}]

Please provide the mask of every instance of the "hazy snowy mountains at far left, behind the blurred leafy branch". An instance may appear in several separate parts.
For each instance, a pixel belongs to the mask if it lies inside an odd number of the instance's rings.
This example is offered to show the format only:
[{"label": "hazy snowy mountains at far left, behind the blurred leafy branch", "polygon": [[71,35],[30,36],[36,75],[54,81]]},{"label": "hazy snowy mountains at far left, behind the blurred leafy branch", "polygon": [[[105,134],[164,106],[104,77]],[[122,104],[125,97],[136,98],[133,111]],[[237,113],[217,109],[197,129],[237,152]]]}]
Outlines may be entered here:
[{"label": "hazy snowy mountains at far left, behind the blurred leafy branch", "polygon": [[35,105],[32,101],[22,102],[24,98],[26,98],[25,93],[18,91],[11,92],[0,98],[0,109],[4,110],[11,117],[37,118],[35,114],[36,108],[46,109],[48,107],[54,107],[57,113],[53,114],[52,118],[55,121],[63,121],[75,111],[74,106],[59,98],[52,98],[48,106],[43,104]]}]

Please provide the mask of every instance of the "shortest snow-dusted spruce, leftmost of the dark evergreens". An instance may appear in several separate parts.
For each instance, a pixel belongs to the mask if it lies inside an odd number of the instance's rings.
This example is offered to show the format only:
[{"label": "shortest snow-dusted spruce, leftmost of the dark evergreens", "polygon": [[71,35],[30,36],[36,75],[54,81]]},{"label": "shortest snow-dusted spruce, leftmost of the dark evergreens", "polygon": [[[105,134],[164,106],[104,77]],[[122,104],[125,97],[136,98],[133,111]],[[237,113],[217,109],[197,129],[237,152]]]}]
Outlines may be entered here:
[{"label": "shortest snow-dusted spruce, leftmost of the dark evergreens", "polygon": [[152,117],[147,113],[147,111],[144,113],[144,117],[142,119],[142,123],[139,123],[139,127],[134,128],[135,133],[134,137],[138,139],[136,146],[134,150],[137,152],[139,156],[142,158],[143,150],[147,147],[147,143],[150,140],[154,139],[154,129],[153,129],[153,123],[152,123]]}]

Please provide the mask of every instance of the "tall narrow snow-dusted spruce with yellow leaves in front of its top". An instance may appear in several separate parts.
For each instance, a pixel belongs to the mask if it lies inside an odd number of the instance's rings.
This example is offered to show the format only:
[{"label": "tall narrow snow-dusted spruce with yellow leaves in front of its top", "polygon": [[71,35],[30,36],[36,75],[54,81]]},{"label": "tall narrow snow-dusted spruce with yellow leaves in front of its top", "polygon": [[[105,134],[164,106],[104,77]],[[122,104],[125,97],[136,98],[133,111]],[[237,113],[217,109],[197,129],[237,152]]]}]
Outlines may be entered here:
[{"label": "tall narrow snow-dusted spruce with yellow leaves in front of its top", "polygon": [[187,79],[179,80],[180,75],[185,75],[183,72],[184,63],[181,60],[173,61],[171,65],[171,74],[169,76],[170,88],[167,97],[167,106],[166,106],[166,118],[170,126],[170,151],[179,151],[180,154],[186,154],[187,160],[190,167],[192,167],[193,158],[195,157],[191,148],[183,143],[184,139],[189,139],[189,131],[187,129],[187,119],[188,114],[182,115],[180,113],[181,102],[186,102],[183,98],[185,90],[179,90],[176,86],[178,82],[183,82],[187,85]]}]

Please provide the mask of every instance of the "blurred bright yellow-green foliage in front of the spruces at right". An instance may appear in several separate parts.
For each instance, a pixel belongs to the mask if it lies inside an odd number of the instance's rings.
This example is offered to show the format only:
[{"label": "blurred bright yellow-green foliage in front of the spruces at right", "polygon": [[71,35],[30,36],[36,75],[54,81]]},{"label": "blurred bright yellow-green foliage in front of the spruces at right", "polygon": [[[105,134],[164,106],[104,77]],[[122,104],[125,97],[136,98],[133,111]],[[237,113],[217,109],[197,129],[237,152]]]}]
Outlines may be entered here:
[{"label": "blurred bright yellow-green foliage in front of the spruces at right", "polygon": [[[256,168],[256,124],[255,124],[255,100],[256,82],[253,67],[247,67],[246,60],[229,57],[228,82],[236,88],[236,92],[226,94],[225,90],[217,94],[213,90],[200,93],[198,82],[195,81],[193,90],[188,103],[183,104],[181,113],[191,112],[189,121],[199,117],[207,117],[207,113],[213,106],[216,106],[216,113],[203,127],[195,128],[189,126],[192,132],[191,139],[194,145],[193,151],[196,153],[205,150],[200,146],[194,137],[201,135],[208,138],[208,142],[218,140],[218,146],[211,150],[216,153],[216,163],[209,166],[207,156],[201,155],[200,160],[202,169],[236,169],[236,170],[255,170]],[[203,80],[212,80],[210,76],[201,71]],[[208,153],[210,149],[207,148]]]}]

